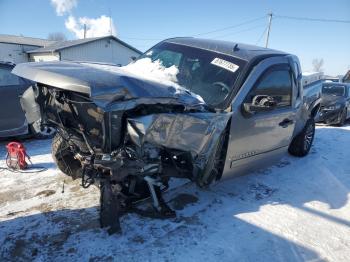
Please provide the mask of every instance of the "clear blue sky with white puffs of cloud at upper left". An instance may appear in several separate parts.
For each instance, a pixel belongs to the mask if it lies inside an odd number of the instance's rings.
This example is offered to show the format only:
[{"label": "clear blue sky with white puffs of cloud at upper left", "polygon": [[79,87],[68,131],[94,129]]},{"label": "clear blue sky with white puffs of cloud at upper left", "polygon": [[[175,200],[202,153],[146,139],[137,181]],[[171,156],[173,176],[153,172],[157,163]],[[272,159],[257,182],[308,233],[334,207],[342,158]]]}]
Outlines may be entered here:
[{"label": "clear blue sky with white puffs of cloud at upper left", "polygon": [[[270,11],[350,20],[350,0],[0,0],[0,34],[46,38],[50,32],[63,32],[76,39],[86,24],[88,36],[112,32],[141,51],[164,38],[198,34],[264,45]],[[255,18],[260,19],[216,31]],[[314,58],[323,58],[325,73],[345,74],[350,69],[350,24],[274,17],[269,47],[298,55],[305,71],[312,70]]]}]

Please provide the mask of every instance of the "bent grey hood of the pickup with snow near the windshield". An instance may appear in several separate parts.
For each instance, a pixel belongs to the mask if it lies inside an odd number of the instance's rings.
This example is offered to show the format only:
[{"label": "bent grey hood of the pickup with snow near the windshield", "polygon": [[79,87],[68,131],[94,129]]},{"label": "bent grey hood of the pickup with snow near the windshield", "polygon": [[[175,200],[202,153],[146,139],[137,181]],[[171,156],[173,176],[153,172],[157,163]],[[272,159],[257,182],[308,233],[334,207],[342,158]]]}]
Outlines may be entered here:
[{"label": "bent grey hood of the pickup with snow near the windshield", "polygon": [[88,94],[100,106],[134,98],[173,98],[189,105],[203,100],[176,83],[164,84],[129,73],[117,66],[76,62],[18,64],[15,75],[56,88]]}]

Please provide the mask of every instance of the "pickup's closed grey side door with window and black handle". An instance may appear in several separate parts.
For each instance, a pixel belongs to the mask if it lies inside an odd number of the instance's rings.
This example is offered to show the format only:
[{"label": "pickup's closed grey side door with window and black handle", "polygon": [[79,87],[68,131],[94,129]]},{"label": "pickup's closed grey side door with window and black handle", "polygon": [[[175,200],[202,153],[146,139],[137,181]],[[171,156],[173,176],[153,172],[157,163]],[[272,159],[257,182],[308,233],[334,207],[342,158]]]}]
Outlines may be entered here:
[{"label": "pickup's closed grey side door with window and black handle", "polygon": [[[225,174],[239,175],[278,159],[293,135],[296,109],[292,69],[285,57],[268,58],[250,73],[232,103]],[[246,112],[257,96],[273,98],[267,111]]]}]

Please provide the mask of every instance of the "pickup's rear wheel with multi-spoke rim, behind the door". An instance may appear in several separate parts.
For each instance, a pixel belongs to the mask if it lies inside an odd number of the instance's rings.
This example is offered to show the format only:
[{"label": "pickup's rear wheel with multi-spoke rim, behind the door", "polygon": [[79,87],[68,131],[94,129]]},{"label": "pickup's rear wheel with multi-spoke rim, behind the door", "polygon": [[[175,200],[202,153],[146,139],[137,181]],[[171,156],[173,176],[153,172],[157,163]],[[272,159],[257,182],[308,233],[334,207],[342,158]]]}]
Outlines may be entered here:
[{"label": "pickup's rear wheel with multi-spoke rim, behind the door", "polygon": [[297,157],[306,156],[312,146],[315,137],[315,120],[310,118],[306,121],[303,130],[293,138],[289,145],[288,151],[291,155]]}]

